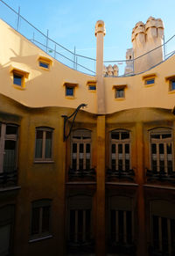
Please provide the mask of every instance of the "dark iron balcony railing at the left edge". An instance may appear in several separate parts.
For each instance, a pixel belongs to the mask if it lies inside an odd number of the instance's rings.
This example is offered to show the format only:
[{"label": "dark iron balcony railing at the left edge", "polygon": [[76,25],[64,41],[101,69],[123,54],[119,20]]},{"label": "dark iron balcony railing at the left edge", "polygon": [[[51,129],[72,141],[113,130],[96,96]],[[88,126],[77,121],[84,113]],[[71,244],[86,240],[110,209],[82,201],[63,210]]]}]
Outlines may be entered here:
[{"label": "dark iron balcony railing at the left edge", "polygon": [[0,187],[14,187],[18,184],[18,171],[1,172],[0,173]]}]

